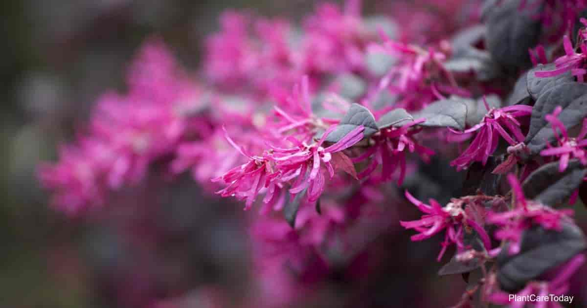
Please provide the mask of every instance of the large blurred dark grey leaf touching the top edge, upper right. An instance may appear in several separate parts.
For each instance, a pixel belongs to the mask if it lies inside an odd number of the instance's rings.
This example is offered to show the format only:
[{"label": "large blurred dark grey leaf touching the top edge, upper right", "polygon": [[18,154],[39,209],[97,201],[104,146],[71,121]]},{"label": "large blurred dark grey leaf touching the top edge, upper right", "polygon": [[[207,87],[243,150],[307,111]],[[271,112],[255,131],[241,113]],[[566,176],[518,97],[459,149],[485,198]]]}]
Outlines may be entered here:
[{"label": "large blurred dark grey leaf touching the top edge, upper right", "polygon": [[525,9],[519,9],[521,0],[485,1],[485,46],[495,61],[521,69],[532,66],[528,49],[538,44],[542,32],[542,21],[536,18],[542,10],[538,1],[527,1]]}]

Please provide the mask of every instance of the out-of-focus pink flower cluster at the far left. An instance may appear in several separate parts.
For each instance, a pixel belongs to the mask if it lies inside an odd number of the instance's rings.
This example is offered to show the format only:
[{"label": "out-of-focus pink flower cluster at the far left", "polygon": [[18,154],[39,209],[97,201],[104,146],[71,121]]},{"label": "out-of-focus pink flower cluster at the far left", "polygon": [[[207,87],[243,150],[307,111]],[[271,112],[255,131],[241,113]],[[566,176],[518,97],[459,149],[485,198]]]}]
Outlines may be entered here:
[{"label": "out-of-focus pink flower cluster at the far left", "polygon": [[141,181],[192,131],[188,119],[197,117],[202,92],[163,42],[144,46],[128,83],[129,93],[106,93],[97,101],[87,133],[77,145],[62,147],[58,164],[42,166],[40,177],[55,191],[56,208],[76,215],[99,207],[107,191]]}]

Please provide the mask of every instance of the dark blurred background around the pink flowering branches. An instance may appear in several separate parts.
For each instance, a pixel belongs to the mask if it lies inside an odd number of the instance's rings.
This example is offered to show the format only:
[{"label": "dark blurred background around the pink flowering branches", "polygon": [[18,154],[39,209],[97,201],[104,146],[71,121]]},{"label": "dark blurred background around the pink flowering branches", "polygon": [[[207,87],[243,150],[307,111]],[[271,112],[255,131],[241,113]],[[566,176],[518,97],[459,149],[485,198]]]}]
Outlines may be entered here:
[{"label": "dark blurred background around the pink flowering branches", "polygon": [[[366,14],[383,1],[363,1]],[[36,181],[41,161],[83,129],[93,101],[123,90],[126,64],[141,42],[163,38],[188,70],[227,8],[299,20],[309,0],[6,0],[0,2],[0,306],[239,306],[251,292],[247,216],[187,176],[155,175],[109,201],[92,219],[71,219],[47,205]],[[423,8],[426,9],[426,8]],[[439,166],[446,166],[445,169]],[[463,174],[433,161],[414,194],[440,201]],[[421,182],[420,182],[421,184]],[[409,185],[409,183],[408,183]],[[137,209],[140,209],[137,210]],[[415,218],[406,205],[398,212]],[[438,239],[410,243],[397,222],[373,239],[377,270],[360,281],[333,271],[300,307],[442,307],[466,284],[438,277]],[[584,300],[584,299],[583,299]]]}]

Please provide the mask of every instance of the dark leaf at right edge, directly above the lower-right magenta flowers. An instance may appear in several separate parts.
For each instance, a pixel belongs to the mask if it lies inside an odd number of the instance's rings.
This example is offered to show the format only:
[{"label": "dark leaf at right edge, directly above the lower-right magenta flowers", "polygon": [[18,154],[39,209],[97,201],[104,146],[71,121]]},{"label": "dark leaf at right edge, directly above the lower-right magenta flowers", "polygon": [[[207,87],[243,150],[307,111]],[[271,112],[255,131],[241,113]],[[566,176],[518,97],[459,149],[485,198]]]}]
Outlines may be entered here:
[{"label": "dark leaf at right edge, directly above the lower-right magenta flowers", "polygon": [[578,160],[572,160],[564,172],[559,172],[558,167],[559,163],[555,161],[532,172],[522,184],[526,198],[545,205],[560,204],[571,196],[587,175],[587,169]]}]

